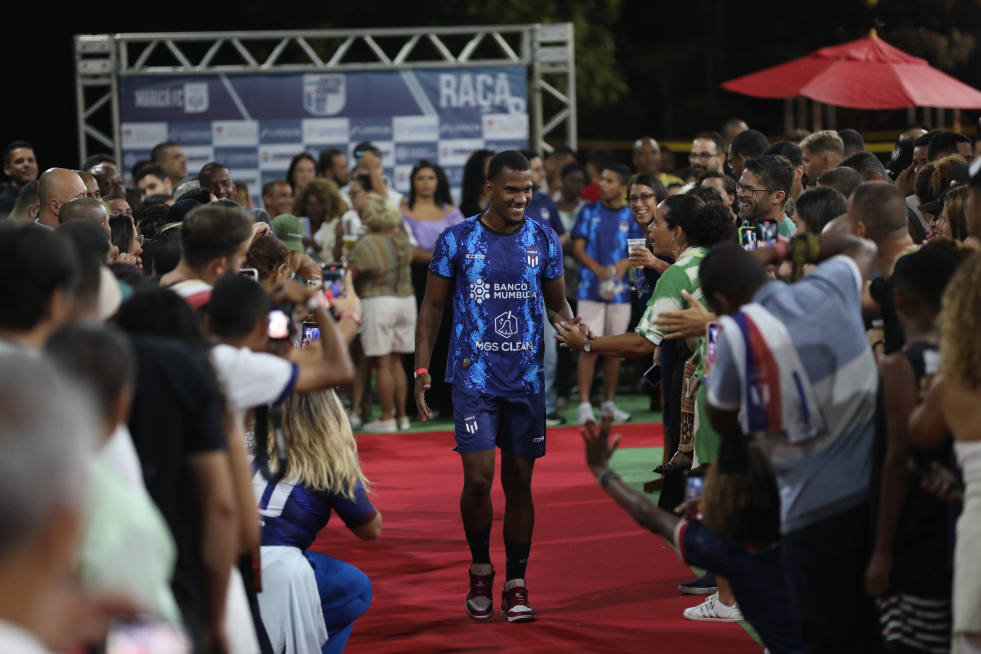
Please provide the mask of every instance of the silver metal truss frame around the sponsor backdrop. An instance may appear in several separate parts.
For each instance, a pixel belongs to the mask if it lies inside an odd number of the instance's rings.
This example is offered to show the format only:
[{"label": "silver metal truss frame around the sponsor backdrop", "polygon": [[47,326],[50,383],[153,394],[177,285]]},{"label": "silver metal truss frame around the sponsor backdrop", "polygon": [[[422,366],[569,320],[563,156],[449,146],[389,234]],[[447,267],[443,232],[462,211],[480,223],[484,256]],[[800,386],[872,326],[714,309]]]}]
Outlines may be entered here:
[{"label": "silver metal truss frame around the sponsor backdrop", "polygon": [[[505,35],[519,35],[512,47]],[[452,37],[466,43],[457,52],[446,44]],[[575,31],[571,23],[549,25],[475,25],[447,27],[392,27],[375,29],[308,29],[227,32],[174,32],[129,34],[77,34],[75,36],[76,105],[79,161],[89,152],[89,140],[110,149],[122,161],[122,124],[119,79],[123,75],[217,75],[283,74],[466,68],[476,66],[526,66],[529,69],[529,142],[540,152],[550,152],[544,137],[563,123],[565,141],[577,148]],[[392,55],[378,39],[400,40]],[[513,40],[513,38],[512,38]],[[376,58],[374,61],[345,61],[352,46],[359,42]],[[431,44],[438,58],[413,58],[421,42]],[[490,42],[496,56],[475,58],[478,46]],[[201,49],[203,57],[191,57],[189,44]],[[268,54],[257,54],[258,47],[272,45]],[[320,52],[315,45],[322,44]],[[231,46],[231,48],[226,47]],[[306,61],[281,62],[284,51],[301,51]],[[298,50],[297,50],[298,47]],[[223,48],[237,56],[237,63],[213,63]],[[325,56],[330,51],[329,56]],[[169,53],[170,65],[150,65],[154,53]],[[224,61],[227,61],[225,58]],[[563,88],[564,87],[564,88]],[[92,89],[86,92],[86,89]],[[545,116],[544,95],[550,102]],[[93,125],[97,114],[108,110],[112,133]],[[102,123],[105,124],[103,116]]]}]

